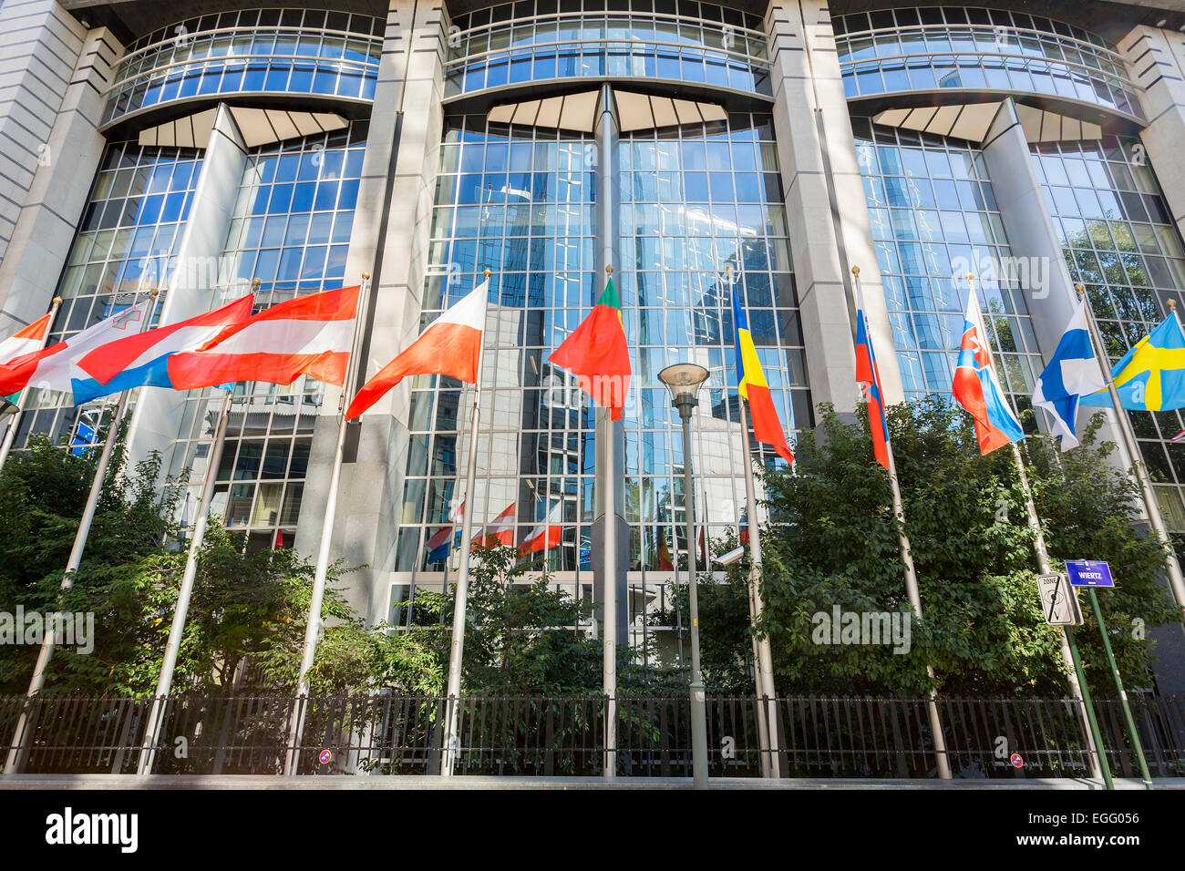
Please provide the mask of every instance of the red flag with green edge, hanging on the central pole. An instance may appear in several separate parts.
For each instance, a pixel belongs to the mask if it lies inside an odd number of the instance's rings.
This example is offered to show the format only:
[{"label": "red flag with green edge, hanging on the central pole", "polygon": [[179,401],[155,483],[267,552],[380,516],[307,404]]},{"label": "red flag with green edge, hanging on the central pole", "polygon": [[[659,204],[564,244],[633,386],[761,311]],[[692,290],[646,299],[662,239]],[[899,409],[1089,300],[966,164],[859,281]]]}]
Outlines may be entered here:
[{"label": "red flag with green edge, hanging on the central pole", "polygon": [[629,392],[629,348],[613,278],[606,283],[589,316],[547,360],[575,374],[581,390],[597,405],[609,409],[610,420],[621,420]]}]

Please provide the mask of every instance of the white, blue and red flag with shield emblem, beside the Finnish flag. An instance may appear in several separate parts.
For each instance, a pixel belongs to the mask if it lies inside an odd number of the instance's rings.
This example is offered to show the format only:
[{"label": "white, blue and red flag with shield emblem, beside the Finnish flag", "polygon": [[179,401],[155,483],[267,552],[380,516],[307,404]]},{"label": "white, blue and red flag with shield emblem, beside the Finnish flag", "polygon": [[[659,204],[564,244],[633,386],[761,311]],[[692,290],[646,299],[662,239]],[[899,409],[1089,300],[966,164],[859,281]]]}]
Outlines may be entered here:
[{"label": "white, blue and red flag with shield emblem, beside the Finnish flag", "polygon": [[980,454],[991,454],[1005,444],[1025,437],[1020,422],[1012,414],[1004,390],[995,377],[987,329],[979,300],[972,292],[967,300],[962,340],[959,342],[959,363],[952,385],[955,399],[975,418],[975,437]]}]

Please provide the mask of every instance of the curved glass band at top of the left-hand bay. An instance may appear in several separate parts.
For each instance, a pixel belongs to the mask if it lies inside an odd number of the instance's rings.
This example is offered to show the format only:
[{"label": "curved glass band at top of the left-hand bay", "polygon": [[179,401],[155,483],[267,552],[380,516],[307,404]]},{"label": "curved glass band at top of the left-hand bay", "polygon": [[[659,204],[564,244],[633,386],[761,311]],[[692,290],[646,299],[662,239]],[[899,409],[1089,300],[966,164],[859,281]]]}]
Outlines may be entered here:
[{"label": "curved glass band at top of the left-hand bay", "polygon": [[372,100],[384,26],[370,15],[315,9],[244,9],[179,21],[128,47],[102,123],[212,95]]}]

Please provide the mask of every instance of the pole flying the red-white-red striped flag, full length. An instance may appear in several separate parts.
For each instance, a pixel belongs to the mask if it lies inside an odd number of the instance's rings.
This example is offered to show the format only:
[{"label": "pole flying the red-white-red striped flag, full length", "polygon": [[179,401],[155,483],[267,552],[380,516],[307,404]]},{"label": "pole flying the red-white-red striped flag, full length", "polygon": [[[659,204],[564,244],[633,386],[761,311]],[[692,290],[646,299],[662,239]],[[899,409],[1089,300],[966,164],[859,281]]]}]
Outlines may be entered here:
[{"label": "pole flying the red-white-red striped flag, full length", "polygon": [[333,526],[338,513],[338,491],[341,485],[341,459],[346,447],[346,405],[353,393],[357,373],[364,364],[358,360],[358,344],[366,321],[367,300],[370,297],[370,273],[363,273],[363,283],[358,289],[358,305],[354,308],[354,335],[350,345],[350,363],[346,367],[345,383],[338,398],[338,443],[333,454],[333,472],[329,475],[329,492],[325,499],[325,519],[321,523],[321,544],[316,553],[316,569],[313,574],[313,596],[308,606],[308,619],[305,625],[305,651],[301,654],[300,674],[296,678],[296,702],[293,709],[288,732],[288,762],[284,773],[296,774],[300,762],[300,739],[305,731],[305,716],[308,710],[308,673],[313,668],[316,655],[316,641],[321,634],[321,606],[325,603],[325,584],[329,574],[329,546],[333,544]]}]

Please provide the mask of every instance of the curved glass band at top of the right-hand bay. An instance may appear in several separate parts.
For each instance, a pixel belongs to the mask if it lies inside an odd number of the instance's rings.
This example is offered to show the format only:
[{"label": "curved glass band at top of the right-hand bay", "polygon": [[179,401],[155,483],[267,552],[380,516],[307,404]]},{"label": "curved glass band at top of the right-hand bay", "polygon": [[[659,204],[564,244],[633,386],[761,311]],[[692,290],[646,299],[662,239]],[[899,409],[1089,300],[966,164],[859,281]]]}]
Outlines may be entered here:
[{"label": "curved glass band at top of the right-hand bay", "polygon": [[847,96],[962,88],[1040,94],[1142,119],[1122,56],[1040,15],[929,6],[835,15]]}]

